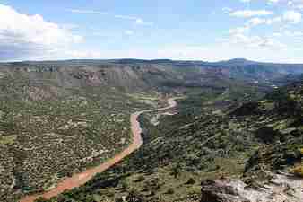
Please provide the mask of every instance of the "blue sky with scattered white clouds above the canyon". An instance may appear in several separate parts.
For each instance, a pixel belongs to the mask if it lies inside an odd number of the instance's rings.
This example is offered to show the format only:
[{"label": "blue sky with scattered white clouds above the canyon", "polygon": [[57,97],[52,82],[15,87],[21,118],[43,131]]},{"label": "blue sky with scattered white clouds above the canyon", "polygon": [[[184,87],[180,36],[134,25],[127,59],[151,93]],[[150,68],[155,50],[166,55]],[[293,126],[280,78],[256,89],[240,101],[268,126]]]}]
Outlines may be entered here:
[{"label": "blue sky with scattered white clouds above the canyon", "polygon": [[303,63],[303,0],[0,0],[0,60]]}]

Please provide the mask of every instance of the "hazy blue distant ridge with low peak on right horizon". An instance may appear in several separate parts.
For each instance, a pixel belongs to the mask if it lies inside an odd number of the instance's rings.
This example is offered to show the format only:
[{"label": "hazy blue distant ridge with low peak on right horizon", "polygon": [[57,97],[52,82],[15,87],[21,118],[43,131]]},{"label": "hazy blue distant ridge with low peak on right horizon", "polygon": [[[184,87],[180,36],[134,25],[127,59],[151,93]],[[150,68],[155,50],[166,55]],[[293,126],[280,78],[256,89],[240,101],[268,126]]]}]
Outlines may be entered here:
[{"label": "hazy blue distant ridge with low peak on right horizon", "polygon": [[303,74],[303,64],[273,64],[236,58],[220,62],[160,60],[116,60],[117,64],[151,64],[188,68],[197,72],[221,74],[235,79],[271,82],[285,75]]}]

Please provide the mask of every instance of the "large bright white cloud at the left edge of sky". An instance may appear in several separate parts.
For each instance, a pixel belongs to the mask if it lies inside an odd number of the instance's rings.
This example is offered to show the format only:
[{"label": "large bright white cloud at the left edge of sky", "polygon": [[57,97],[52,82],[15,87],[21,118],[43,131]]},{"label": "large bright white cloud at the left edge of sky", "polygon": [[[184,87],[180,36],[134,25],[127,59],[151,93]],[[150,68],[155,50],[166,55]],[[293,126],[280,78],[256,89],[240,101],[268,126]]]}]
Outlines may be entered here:
[{"label": "large bright white cloud at the left edge of sky", "polygon": [[82,40],[40,15],[21,14],[0,4],[0,60],[44,57]]}]

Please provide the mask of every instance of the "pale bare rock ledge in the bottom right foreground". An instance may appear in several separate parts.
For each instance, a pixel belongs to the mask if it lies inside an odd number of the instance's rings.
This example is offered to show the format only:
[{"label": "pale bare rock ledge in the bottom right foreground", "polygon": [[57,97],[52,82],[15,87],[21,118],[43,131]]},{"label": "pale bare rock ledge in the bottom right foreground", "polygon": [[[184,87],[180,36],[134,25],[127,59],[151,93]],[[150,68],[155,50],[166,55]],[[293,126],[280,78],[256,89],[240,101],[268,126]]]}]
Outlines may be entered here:
[{"label": "pale bare rock ledge in the bottom right foreground", "polygon": [[273,174],[257,187],[242,180],[206,180],[202,182],[201,202],[301,202],[302,179],[288,174]]}]

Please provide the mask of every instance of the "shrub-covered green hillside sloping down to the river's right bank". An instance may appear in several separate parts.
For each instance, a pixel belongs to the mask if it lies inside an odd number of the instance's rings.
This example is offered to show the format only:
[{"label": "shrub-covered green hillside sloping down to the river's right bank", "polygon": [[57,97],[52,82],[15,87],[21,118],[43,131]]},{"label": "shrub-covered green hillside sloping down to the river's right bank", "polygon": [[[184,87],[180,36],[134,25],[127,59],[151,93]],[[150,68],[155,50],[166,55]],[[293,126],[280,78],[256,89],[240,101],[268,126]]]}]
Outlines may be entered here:
[{"label": "shrub-covered green hillside sloping down to the river's right bank", "polygon": [[50,201],[302,201],[302,101],[297,82],[259,101],[206,101],[199,116],[188,100],[158,124],[143,116],[140,151]]}]

